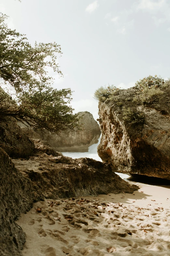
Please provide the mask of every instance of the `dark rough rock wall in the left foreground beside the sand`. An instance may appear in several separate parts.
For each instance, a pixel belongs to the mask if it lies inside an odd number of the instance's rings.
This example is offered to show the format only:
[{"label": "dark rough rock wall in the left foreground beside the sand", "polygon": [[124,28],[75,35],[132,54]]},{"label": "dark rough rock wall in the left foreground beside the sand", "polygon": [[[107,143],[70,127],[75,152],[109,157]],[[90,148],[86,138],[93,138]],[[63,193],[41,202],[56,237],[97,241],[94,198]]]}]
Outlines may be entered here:
[{"label": "dark rough rock wall in the left foreground beside the sand", "polygon": [[25,233],[14,220],[31,209],[34,197],[31,180],[15,168],[0,148],[0,255],[21,255]]}]

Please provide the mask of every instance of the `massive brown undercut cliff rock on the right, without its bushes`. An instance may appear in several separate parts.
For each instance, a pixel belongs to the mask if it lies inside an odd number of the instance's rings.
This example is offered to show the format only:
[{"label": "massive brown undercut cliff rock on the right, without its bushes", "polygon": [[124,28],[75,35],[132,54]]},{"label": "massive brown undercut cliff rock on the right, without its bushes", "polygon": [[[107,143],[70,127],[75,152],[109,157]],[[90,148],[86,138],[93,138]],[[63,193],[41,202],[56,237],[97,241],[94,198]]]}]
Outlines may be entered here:
[{"label": "massive brown undercut cliff rock on the right, without its bushes", "polygon": [[[170,179],[170,87],[159,102],[136,106],[136,88],[120,90],[114,100],[99,102],[102,131],[98,154],[116,172]],[[144,123],[128,124],[122,106],[144,113]]]}]

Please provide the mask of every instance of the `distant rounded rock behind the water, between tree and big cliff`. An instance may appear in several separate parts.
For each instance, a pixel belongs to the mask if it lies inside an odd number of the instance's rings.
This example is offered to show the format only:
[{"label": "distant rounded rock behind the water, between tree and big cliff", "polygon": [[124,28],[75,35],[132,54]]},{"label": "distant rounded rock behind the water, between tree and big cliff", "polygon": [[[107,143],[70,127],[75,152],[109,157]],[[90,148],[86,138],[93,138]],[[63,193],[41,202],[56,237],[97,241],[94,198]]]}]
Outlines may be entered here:
[{"label": "distant rounded rock behind the water, between tree and big cliff", "polygon": [[[49,139],[50,145],[60,152],[88,152],[92,144],[96,144],[101,131],[97,121],[90,112],[79,112],[79,124],[82,124],[81,131],[76,132],[68,129],[64,133],[53,135]],[[44,138],[47,140],[47,138]]]}]

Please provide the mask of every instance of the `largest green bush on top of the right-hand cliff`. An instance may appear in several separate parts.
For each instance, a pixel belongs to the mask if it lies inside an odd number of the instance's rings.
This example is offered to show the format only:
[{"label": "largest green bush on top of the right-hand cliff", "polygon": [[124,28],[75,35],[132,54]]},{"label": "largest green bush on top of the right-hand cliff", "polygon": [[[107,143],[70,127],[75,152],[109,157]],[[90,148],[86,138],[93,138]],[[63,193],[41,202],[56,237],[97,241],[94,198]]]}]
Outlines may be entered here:
[{"label": "largest green bush on top of the right-hand cliff", "polygon": [[153,104],[158,102],[163,94],[159,87],[163,84],[164,80],[161,77],[157,77],[157,75],[155,77],[145,77],[137,81],[135,85],[139,89],[139,92],[133,101],[137,104]]}]

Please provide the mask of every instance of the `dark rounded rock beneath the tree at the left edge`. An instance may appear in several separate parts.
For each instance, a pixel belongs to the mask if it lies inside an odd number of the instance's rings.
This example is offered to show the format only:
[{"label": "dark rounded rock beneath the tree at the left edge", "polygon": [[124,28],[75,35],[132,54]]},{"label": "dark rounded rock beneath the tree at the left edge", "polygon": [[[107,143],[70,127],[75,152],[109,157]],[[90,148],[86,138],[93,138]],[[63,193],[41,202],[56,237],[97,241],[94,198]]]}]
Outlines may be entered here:
[{"label": "dark rounded rock beneath the tree at the left edge", "polygon": [[34,143],[11,117],[0,121],[0,147],[14,158],[34,154]]}]

